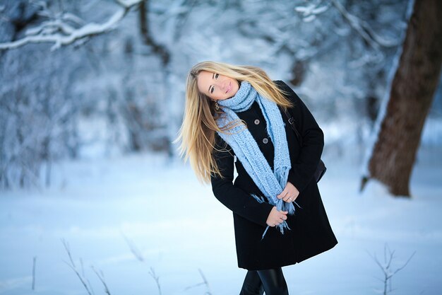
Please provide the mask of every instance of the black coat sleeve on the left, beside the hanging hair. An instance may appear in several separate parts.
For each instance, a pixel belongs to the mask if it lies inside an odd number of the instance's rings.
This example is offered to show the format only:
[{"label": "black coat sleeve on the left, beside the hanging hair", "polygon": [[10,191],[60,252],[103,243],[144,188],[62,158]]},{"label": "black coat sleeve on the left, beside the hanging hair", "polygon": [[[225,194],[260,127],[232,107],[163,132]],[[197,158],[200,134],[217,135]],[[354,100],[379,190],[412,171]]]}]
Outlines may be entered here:
[{"label": "black coat sleeve on the left, beside the hanging hair", "polygon": [[265,221],[273,206],[266,202],[259,203],[248,192],[233,184],[233,150],[218,134],[215,134],[215,148],[215,161],[224,178],[211,175],[213,195],[232,212],[261,226],[267,226]]}]

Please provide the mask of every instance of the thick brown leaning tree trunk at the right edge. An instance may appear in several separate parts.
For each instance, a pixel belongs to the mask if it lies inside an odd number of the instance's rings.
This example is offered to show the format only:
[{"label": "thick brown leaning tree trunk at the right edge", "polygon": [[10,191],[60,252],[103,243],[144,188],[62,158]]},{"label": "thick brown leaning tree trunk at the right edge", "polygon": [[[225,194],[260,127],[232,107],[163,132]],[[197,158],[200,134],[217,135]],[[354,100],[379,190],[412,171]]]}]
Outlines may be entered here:
[{"label": "thick brown leaning tree trunk at the right edge", "polygon": [[378,134],[369,159],[369,175],[395,196],[410,197],[410,175],[422,128],[441,74],[442,1],[415,0],[390,88],[378,119]]}]

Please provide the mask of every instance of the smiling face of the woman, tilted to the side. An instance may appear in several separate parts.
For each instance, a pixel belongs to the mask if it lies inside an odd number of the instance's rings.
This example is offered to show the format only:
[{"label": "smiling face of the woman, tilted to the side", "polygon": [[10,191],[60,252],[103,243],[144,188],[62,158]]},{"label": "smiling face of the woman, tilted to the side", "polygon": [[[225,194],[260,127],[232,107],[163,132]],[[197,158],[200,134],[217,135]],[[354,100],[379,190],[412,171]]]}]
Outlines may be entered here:
[{"label": "smiling face of the woman, tilted to the side", "polygon": [[200,71],[197,83],[198,90],[212,100],[231,98],[239,89],[237,80],[210,71]]}]

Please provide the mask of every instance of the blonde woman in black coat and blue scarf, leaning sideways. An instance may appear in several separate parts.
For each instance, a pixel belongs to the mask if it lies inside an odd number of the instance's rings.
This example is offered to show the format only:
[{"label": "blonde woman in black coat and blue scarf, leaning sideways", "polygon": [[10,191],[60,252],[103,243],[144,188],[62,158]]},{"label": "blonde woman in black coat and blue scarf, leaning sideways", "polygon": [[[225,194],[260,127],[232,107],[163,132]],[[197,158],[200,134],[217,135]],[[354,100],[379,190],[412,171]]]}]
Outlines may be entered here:
[{"label": "blonde woman in black coat and blue scarf, leaning sideways", "polygon": [[313,180],[323,132],[289,86],[253,66],[201,62],[186,87],[181,155],[233,212],[238,266],[249,270],[240,294],[288,294],[281,267],[338,243]]}]

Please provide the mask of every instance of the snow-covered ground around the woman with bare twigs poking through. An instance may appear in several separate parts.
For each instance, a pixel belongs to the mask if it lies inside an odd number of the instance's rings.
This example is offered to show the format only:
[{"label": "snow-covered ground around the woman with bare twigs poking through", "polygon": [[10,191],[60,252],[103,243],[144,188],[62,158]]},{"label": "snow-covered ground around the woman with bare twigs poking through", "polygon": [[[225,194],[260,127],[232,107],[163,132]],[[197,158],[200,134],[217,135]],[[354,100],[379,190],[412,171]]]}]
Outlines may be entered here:
[{"label": "snow-covered ground around the woman with bare twigs poking through", "polygon": [[[386,244],[393,271],[415,252],[391,294],[442,294],[442,165],[440,156],[421,158],[412,199],[395,199],[374,182],[359,194],[359,164],[325,157],[320,190],[339,243],[283,268],[290,294],[381,294],[372,256],[383,263]],[[92,294],[105,294],[94,269],[112,295],[159,294],[152,271],[163,295],[239,294],[246,271],[237,268],[231,213],[189,166],[144,154],[54,171],[50,189],[0,195],[0,294],[87,294],[62,239]]]}]

